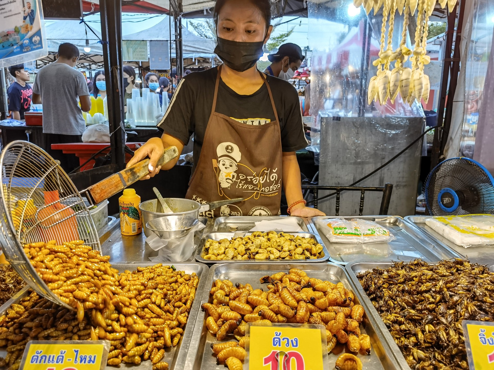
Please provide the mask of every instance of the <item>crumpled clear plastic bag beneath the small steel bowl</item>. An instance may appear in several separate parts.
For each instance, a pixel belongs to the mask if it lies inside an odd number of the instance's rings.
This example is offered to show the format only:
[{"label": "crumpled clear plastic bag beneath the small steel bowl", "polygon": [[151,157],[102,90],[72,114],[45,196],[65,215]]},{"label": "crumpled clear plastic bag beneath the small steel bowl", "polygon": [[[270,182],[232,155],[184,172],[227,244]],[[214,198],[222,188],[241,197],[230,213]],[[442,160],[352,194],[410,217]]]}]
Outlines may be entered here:
[{"label": "crumpled clear plastic bag beneath the small steel bowl", "polygon": [[[194,233],[202,230],[206,225],[199,222],[190,231],[179,238],[161,239],[154,232],[146,238],[146,243],[154,251],[159,251],[157,257],[150,257],[153,262],[172,261],[182,262],[191,258],[196,246],[194,245]],[[166,248],[165,248],[166,247]]]}]

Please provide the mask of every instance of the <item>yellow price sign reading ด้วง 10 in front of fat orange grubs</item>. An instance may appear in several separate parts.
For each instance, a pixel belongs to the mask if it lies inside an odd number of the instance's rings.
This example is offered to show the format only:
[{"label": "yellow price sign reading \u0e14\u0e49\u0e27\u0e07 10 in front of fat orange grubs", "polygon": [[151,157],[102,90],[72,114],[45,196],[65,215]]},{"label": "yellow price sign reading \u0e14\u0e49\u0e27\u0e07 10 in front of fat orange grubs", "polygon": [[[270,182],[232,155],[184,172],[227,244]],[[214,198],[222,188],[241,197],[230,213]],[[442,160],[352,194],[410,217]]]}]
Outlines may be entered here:
[{"label": "yellow price sign reading \u0e14\u0e49\u0e27\u0e07 10 in front of fat orange grubs", "polygon": [[323,370],[329,368],[326,328],[310,324],[248,325],[247,369]]}]

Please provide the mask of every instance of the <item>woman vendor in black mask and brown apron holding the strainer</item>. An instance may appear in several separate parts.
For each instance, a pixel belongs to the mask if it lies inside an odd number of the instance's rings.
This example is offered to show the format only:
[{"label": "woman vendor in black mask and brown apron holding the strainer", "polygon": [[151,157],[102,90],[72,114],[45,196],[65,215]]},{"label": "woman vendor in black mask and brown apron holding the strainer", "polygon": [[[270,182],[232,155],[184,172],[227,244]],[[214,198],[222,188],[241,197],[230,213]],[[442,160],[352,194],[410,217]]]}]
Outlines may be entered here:
[{"label": "woman vendor in black mask and brown apron holding the strainer", "polygon": [[217,0],[214,9],[218,68],[184,77],[158,124],[162,138],[139,148],[127,167],[150,157],[147,178],[164,148],[181,152],[194,133],[194,169],[186,197],[203,201],[245,198],[209,217],[280,213],[281,187],[292,216],[324,215],[305,206],[295,151],[307,146],[298,94],[287,81],[265,75],[256,63],[273,27],[269,0]]}]

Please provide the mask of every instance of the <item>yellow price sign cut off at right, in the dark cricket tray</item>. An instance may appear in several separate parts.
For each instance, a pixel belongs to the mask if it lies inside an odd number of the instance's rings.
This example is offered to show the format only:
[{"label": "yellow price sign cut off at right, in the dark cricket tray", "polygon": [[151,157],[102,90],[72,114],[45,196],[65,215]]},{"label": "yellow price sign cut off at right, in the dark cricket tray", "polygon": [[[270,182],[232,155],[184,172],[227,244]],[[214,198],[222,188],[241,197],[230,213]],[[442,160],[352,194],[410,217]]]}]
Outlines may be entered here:
[{"label": "yellow price sign cut off at right, in the dark cricket tray", "polygon": [[494,323],[463,320],[470,370],[494,369]]}]

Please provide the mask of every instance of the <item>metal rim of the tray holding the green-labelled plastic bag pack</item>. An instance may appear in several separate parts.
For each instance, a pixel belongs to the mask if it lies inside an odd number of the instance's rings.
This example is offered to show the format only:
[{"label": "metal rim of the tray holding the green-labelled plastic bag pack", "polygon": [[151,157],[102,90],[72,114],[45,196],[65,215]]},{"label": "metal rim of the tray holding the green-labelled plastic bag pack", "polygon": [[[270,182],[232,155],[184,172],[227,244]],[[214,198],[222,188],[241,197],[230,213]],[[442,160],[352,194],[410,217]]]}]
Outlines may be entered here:
[{"label": "metal rim of the tray holding the green-labelled plastic bag pack", "polygon": [[[410,216],[408,216],[408,217],[410,217]],[[398,220],[401,220],[402,222],[404,222],[406,225],[410,226],[412,228],[412,230],[416,234],[418,234],[418,236],[420,236],[422,238],[422,241],[428,242],[430,244],[434,244],[435,247],[442,254],[444,254],[445,256],[450,257],[450,258],[458,258],[458,257],[461,257],[461,256],[458,255],[458,253],[456,253],[455,251],[453,251],[451,248],[445,246],[443,243],[440,243],[440,242],[437,242],[436,243],[436,241],[434,239],[432,239],[428,235],[426,235],[421,229],[419,229],[415,225],[411,224],[411,222],[407,222],[406,221],[406,218],[403,218],[401,216],[389,216],[389,215],[385,215],[385,216],[369,215],[369,216],[316,216],[316,217],[309,217],[308,218],[309,227],[312,229],[312,232],[314,232],[315,234],[317,234],[319,236],[320,243],[326,249],[328,249],[328,248],[327,248],[326,244],[323,243],[323,240],[322,240],[322,238],[321,238],[321,236],[319,234],[319,230],[317,229],[316,224],[313,222],[313,220],[314,221],[319,221],[319,220],[323,220],[323,219],[336,219],[336,218],[343,218],[343,219],[345,219],[345,218],[346,219],[348,219],[348,218],[352,218],[352,219],[371,219],[371,221],[384,221],[386,219],[398,219]],[[426,247],[426,246],[424,246],[424,247]],[[363,263],[363,261],[360,261],[360,262],[343,262],[343,261],[338,261],[338,260],[334,259],[331,256],[329,256],[329,261],[332,262],[332,263],[340,264],[340,265],[347,265],[347,264],[352,264],[352,263]],[[376,263],[389,262],[389,258],[383,257],[382,260],[376,259],[376,260],[372,260],[372,262],[376,262]]]}]

